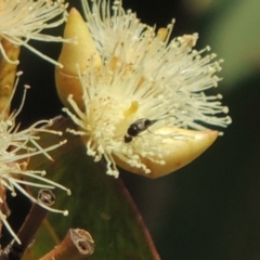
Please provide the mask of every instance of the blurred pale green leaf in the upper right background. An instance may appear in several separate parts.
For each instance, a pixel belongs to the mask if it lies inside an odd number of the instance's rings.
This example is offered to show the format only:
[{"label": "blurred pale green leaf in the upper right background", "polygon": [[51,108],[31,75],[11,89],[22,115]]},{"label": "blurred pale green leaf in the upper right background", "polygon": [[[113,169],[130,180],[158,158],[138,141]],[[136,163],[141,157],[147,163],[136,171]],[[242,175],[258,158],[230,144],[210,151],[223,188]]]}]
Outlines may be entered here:
[{"label": "blurred pale green leaf in the upper right background", "polygon": [[208,41],[218,56],[224,58],[226,86],[234,86],[257,73],[260,64],[259,0],[225,4],[210,26]]}]

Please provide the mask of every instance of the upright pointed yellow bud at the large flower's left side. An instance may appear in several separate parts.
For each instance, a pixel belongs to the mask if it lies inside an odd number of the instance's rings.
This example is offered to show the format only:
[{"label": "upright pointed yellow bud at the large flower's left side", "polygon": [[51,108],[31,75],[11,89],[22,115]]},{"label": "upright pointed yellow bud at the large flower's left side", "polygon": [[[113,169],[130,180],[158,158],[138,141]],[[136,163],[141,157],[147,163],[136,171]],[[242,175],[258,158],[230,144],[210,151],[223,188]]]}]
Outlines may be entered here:
[{"label": "upright pointed yellow bud at the large flower's left side", "polygon": [[78,106],[83,109],[79,73],[88,70],[90,67],[99,69],[102,62],[88,26],[75,8],[69,12],[64,39],[75,39],[75,42],[63,43],[58,63],[64,67],[56,66],[55,69],[57,93],[65,106],[69,106],[67,98],[73,94]]}]

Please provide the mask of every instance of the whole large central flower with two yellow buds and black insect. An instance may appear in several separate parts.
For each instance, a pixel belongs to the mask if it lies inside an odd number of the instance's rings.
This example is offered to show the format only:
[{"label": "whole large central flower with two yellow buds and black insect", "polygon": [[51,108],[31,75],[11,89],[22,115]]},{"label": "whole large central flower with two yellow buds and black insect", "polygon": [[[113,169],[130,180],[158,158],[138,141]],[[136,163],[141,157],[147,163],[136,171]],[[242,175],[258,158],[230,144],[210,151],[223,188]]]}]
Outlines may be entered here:
[{"label": "whole large central flower with two yellow buds and black insect", "polygon": [[87,24],[73,9],[56,67],[64,112],[78,126],[87,154],[156,178],[198,157],[217,139],[211,128],[231,122],[221,94],[208,95],[221,80],[222,61],[209,48],[194,49],[198,35],[171,38],[173,22],[156,30],[142,24],[121,1],[82,0]]}]

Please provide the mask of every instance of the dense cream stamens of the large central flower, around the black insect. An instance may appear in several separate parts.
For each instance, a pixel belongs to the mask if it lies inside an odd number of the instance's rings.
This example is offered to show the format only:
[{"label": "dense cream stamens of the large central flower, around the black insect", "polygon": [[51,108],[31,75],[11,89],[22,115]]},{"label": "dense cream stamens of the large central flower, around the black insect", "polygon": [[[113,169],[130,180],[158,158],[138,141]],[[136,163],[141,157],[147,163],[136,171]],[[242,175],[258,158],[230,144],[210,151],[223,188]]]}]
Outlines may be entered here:
[{"label": "dense cream stamens of the large central flower, around the black insect", "polygon": [[[197,34],[170,40],[173,22],[156,34],[131,11],[125,12],[120,1],[114,2],[113,11],[104,0],[92,1],[92,8],[88,0],[81,2],[102,65],[96,69],[90,61],[80,74],[84,110],[72,95],[74,112],[64,110],[80,128],[68,131],[84,135],[87,153],[95,160],[104,156],[108,174],[118,176],[115,157],[148,173],[142,158],[165,164],[164,140],[190,138],[178,130],[156,134],[161,127],[203,130],[231,122],[222,96],[205,93],[218,86],[214,74],[222,61],[211,62],[216,54],[207,55],[208,47],[193,50]],[[140,118],[156,122],[126,142],[129,126]]]}]

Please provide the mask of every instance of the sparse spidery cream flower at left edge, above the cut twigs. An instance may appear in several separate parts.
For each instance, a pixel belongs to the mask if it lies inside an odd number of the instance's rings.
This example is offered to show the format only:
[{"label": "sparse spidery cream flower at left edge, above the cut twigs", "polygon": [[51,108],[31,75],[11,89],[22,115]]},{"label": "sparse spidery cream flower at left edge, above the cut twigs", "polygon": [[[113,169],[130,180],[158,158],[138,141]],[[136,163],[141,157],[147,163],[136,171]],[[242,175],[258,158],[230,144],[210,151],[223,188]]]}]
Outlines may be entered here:
[{"label": "sparse spidery cream flower at left edge, above the cut twigs", "polygon": [[[21,74],[18,73],[17,76]],[[67,214],[67,210],[60,210],[51,208],[47,205],[41,204],[30,193],[26,191],[24,186],[39,187],[39,188],[62,188],[70,194],[70,191],[65,186],[55,183],[54,181],[48,180],[44,178],[44,170],[29,170],[27,169],[27,165],[31,156],[42,154],[48,159],[52,159],[52,157],[48,154],[48,152],[53,151],[61,145],[66,143],[62,141],[57,144],[41,147],[38,144],[38,140],[40,139],[38,134],[46,132],[50,134],[58,134],[62,135],[62,132],[50,130],[47,127],[50,127],[53,122],[52,120],[40,120],[36,123],[31,125],[29,128],[24,130],[20,130],[20,125],[15,123],[15,119],[23,108],[26,91],[29,88],[25,86],[24,95],[22,99],[22,103],[17,110],[13,110],[8,118],[5,118],[5,109],[8,109],[13,94],[15,92],[18,79],[16,79],[14,90],[9,100],[9,103],[4,107],[4,109],[0,114],[0,183],[1,188],[3,191],[9,190],[12,196],[16,196],[16,190],[28,197],[31,202],[37,203],[41,207],[63,214]],[[4,193],[3,193],[4,194]],[[4,204],[4,197],[0,196],[0,205]],[[14,234],[11,226],[6,221],[6,216],[0,210],[0,219],[3,224],[6,226],[9,232],[13,235],[13,237],[20,242],[18,237]]]}]

